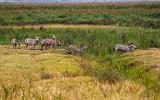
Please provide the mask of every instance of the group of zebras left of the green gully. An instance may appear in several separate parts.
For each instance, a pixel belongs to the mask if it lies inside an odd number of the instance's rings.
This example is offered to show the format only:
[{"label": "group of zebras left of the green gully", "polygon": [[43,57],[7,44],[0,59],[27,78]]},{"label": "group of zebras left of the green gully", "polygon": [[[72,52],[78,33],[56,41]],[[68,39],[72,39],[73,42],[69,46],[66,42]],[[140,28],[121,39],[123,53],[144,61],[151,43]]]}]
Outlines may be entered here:
[{"label": "group of zebras left of the green gully", "polygon": [[[36,38],[26,38],[25,39],[25,45],[26,48],[28,48],[28,46],[32,46],[33,49],[35,49],[35,46],[39,43],[39,37],[36,36]],[[62,42],[61,40],[56,39],[54,36],[51,38],[47,38],[47,39],[42,39],[41,40],[41,50],[45,49],[47,50],[48,48],[50,48],[52,46],[52,48],[55,48],[57,46],[61,46]],[[12,39],[11,40],[11,45],[13,46],[13,49],[20,49],[20,41],[18,39]],[[86,45],[70,45],[68,47],[67,53],[72,53],[72,54],[77,54],[77,53],[82,53],[83,49],[87,48]]]}]

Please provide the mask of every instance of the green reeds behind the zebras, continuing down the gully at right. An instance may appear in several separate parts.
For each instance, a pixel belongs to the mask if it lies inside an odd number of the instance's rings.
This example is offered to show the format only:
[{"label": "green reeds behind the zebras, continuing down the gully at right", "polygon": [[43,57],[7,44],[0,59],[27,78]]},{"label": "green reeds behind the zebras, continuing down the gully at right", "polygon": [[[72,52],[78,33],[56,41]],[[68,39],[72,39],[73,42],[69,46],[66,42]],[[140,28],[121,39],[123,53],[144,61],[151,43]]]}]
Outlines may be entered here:
[{"label": "green reeds behind the zebras, continuing down the gully at right", "polygon": [[[112,28],[106,29],[1,29],[0,44],[9,44],[13,37],[18,37],[23,43],[25,38],[36,35],[41,39],[56,37],[62,40],[62,47],[67,48],[70,44],[86,44],[87,50],[83,56],[99,62],[98,66],[86,67],[85,73],[97,77],[101,81],[114,83],[122,80],[123,76],[131,80],[137,80],[148,88],[155,89],[157,80],[148,73],[140,77],[144,71],[141,65],[135,68],[129,68],[130,60],[121,60],[123,56],[114,53],[113,48],[116,44],[135,43],[138,48],[160,47],[159,29],[142,28]],[[119,57],[120,56],[120,57]],[[119,61],[117,61],[117,57]],[[82,64],[83,65],[83,64]],[[82,66],[83,67],[83,66]],[[145,78],[145,75],[146,78]],[[152,77],[152,78],[147,78]],[[147,81],[147,79],[150,79]]]}]

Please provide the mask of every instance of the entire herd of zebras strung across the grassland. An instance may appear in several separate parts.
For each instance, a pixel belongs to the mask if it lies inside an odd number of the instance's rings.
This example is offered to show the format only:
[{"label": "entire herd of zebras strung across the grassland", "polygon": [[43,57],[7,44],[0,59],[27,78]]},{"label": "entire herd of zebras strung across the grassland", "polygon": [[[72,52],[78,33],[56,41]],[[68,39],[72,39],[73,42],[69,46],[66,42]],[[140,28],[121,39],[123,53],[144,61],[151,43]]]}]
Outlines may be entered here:
[{"label": "entire herd of zebras strung across the grassland", "polygon": [[[39,43],[39,37],[37,37],[37,36],[34,39],[33,38],[26,38],[25,39],[26,48],[28,48],[28,46],[33,46],[33,49],[35,49],[35,46],[38,43]],[[52,46],[52,48],[55,48],[57,46],[62,45],[61,40],[56,39],[54,36],[51,38],[42,39],[40,43],[41,43],[41,50],[43,50],[43,47],[45,47],[45,49],[47,50],[48,48],[50,48],[50,46]],[[20,41],[18,39],[15,39],[15,38],[12,39],[11,44],[13,46],[13,49],[20,49]],[[69,53],[69,54],[82,53],[82,51],[86,48],[87,48],[86,45],[73,45],[73,44],[71,44],[67,49],[67,53]],[[114,47],[114,51],[115,52],[130,52],[130,51],[135,50],[136,48],[137,47],[134,43],[130,43],[129,45],[117,44]]]}]

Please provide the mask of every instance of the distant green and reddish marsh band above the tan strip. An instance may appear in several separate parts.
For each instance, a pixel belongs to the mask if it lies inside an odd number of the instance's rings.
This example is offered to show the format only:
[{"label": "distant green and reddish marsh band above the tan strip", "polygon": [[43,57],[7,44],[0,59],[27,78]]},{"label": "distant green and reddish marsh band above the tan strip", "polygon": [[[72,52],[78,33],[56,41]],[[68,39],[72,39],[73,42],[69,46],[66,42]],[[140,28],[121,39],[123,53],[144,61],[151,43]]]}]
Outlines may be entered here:
[{"label": "distant green and reddish marsh band above the tan strip", "polygon": [[160,3],[1,3],[0,25],[94,24],[160,27]]}]

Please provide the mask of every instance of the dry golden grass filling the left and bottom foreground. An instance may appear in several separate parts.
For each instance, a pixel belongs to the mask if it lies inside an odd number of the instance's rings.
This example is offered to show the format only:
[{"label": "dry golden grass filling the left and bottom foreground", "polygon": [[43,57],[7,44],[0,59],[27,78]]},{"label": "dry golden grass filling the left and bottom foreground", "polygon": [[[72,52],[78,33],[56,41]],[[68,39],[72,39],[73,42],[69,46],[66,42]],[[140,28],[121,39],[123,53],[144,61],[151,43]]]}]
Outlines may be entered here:
[{"label": "dry golden grass filling the left and bottom foreground", "polygon": [[[136,57],[137,52],[129,55]],[[13,50],[11,46],[0,46],[0,99],[146,99],[145,87],[136,82],[101,83],[79,74],[82,63],[96,64],[59,50]],[[41,79],[41,72],[50,73],[53,78]]]}]

